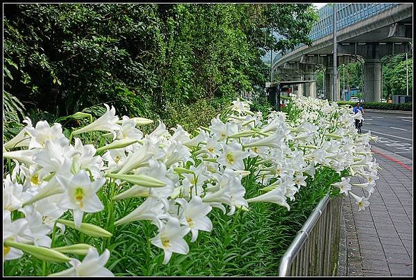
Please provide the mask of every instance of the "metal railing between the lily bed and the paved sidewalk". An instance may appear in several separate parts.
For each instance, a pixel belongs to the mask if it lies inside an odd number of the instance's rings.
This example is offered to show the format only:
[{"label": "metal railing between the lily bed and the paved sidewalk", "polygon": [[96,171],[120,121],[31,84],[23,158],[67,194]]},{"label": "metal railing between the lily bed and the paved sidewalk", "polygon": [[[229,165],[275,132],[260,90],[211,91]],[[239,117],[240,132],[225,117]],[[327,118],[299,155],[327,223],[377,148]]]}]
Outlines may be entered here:
[{"label": "metal railing between the lily bed and the paved sidewalk", "polygon": [[279,266],[279,276],[336,276],[341,198],[325,195],[297,233]]}]

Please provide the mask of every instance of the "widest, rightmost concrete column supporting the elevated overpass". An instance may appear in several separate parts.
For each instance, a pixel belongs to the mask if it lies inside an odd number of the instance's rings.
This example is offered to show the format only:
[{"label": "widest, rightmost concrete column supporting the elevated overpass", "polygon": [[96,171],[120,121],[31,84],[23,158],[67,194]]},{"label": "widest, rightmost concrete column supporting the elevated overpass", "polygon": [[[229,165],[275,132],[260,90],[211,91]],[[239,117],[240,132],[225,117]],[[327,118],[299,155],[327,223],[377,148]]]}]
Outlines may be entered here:
[{"label": "widest, rightmost concrete column supporting the elevated overpass", "polygon": [[364,99],[381,101],[381,63],[379,59],[364,62]]}]

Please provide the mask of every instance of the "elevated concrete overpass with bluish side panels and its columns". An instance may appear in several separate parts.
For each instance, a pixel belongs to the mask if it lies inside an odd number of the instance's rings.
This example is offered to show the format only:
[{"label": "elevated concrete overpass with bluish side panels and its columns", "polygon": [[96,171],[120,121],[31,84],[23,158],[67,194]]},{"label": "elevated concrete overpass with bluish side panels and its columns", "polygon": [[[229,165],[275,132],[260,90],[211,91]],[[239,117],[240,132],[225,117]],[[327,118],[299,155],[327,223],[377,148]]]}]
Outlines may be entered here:
[{"label": "elevated concrete overpass with bluish side panels and its columns", "polygon": [[[338,101],[339,83],[336,100],[333,100],[332,7],[329,9],[324,6],[322,9],[325,13],[320,13],[320,21],[313,26],[309,35],[311,39],[314,38],[312,46],[299,46],[291,53],[277,56],[272,69],[286,81],[314,81],[316,70],[324,69],[325,97],[329,101]],[[355,12],[349,14],[350,11]],[[380,59],[412,51],[412,17],[411,3],[337,4],[337,65],[361,63],[366,101],[381,101]],[[301,92],[302,95],[316,97],[314,82],[302,83],[298,88],[298,95]]]}]

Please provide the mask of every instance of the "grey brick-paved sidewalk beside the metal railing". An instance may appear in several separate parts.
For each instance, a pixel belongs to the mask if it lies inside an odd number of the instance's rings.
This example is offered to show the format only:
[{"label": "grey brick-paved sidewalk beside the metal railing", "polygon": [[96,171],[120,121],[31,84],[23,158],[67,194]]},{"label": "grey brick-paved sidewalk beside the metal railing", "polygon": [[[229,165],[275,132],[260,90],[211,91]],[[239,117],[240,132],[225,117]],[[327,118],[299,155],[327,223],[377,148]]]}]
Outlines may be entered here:
[{"label": "grey brick-paved sidewalk beside the metal railing", "polygon": [[[374,147],[379,170],[370,206],[343,199],[338,276],[413,276],[413,162]],[[381,154],[379,154],[381,153]],[[391,156],[391,154],[390,154]],[[356,179],[356,181],[358,181]],[[364,192],[355,192],[362,195]]]}]

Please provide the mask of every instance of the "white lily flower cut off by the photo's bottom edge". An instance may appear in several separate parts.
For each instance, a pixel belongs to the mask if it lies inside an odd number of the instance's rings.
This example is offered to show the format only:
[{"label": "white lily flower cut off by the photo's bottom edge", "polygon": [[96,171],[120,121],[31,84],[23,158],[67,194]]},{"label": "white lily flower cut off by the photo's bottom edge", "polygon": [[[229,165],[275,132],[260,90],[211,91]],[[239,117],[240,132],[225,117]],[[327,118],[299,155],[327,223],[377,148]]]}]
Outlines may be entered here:
[{"label": "white lily flower cut off by the photo's bottom edge", "polygon": [[98,255],[98,251],[95,248],[89,248],[88,254],[85,256],[82,262],[78,261],[76,258],[71,258],[72,267],[53,274],[49,276],[53,277],[78,277],[78,276],[90,276],[90,277],[114,277],[114,274],[104,267],[107,263],[108,258],[110,258],[110,251],[105,249],[101,256]]}]

